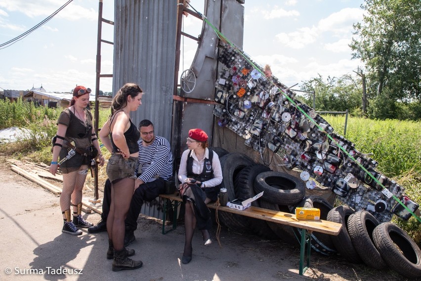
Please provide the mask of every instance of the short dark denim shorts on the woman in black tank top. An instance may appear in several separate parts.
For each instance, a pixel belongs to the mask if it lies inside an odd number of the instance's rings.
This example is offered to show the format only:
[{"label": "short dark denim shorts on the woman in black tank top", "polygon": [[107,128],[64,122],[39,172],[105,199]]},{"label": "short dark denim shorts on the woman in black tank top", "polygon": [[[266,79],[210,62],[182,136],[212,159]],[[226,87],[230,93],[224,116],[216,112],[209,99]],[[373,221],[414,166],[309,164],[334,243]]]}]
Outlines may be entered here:
[{"label": "short dark denim shorts on the woman in black tank top", "polygon": [[137,157],[128,157],[124,159],[120,154],[113,154],[108,160],[107,176],[111,183],[116,183],[121,179],[136,179]]}]

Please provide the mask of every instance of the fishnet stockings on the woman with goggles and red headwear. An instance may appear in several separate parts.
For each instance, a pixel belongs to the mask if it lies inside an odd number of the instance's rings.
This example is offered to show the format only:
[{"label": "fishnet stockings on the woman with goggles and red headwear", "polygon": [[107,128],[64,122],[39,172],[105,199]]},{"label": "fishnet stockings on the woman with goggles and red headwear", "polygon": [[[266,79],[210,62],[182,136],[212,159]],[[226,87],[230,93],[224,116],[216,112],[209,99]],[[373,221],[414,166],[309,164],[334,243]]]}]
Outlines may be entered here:
[{"label": "fishnet stockings on the woman with goggles and red headwear", "polygon": [[[70,209],[70,202],[78,205],[82,202],[82,189],[86,180],[87,173],[80,174],[79,171],[87,170],[87,165],[82,165],[78,171],[63,174],[63,190],[60,195],[61,211]],[[78,212],[78,207],[73,207],[73,212]],[[63,214],[63,218],[66,219]]]}]

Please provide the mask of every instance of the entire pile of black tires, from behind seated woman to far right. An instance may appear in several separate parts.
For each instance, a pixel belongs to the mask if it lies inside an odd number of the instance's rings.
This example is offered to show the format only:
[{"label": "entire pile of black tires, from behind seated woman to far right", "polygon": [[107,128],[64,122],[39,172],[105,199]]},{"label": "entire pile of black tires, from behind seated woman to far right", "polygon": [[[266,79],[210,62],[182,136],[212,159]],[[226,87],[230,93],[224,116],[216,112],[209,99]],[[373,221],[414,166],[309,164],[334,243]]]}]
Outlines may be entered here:
[{"label": "entire pile of black tires, from behind seated woman to far right", "polygon": [[[264,191],[252,206],[294,213],[295,207],[320,209],[320,218],[342,224],[337,236],[313,232],[311,247],[324,255],[339,254],[350,263],[364,262],[375,269],[391,268],[409,278],[421,277],[421,250],[412,238],[392,223],[379,224],[367,211],[354,212],[348,206],[333,207],[320,196],[305,196],[300,179],[271,171],[243,153],[229,153],[213,147],[220,159],[228,201],[247,199]],[[286,225],[266,222],[228,212],[218,213],[228,229],[253,232],[266,239],[281,239],[299,245],[301,232]]]}]

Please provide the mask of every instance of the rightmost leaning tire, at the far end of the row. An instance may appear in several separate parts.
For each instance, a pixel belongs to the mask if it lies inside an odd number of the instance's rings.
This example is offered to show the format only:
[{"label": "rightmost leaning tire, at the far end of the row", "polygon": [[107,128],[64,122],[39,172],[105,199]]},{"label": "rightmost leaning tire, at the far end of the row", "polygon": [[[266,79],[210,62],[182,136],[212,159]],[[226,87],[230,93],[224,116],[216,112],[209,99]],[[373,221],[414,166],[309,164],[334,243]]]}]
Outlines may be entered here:
[{"label": "rightmost leaning tire, at the far end of the row", "polygon": [[373,231],[376,248],[386,264],[402,276],[421,277],[421,250],[398,226],[387,222]]}]

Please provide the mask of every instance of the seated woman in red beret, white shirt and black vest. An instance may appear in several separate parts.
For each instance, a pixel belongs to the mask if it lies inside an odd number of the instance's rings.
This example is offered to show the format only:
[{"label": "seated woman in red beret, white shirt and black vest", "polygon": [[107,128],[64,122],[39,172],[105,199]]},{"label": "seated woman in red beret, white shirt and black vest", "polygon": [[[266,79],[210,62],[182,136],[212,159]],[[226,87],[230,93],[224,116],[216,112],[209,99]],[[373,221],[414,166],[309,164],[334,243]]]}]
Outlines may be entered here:
[{"label": "seated woman in red beret, white shirt and black vest", "polygon": [[209,230],[212,227],[211,211],[206,206],[216,201],[219,184],[222,182],[222,169],[219,157],[208,149],[208,135],[201,129],[191,129],[187,147],[181,156],[178,188],[185,204],[184,226],[186,240],[181,262],[188,264],[192,259],[192,239],[197,226],[202,231],[204,245],[212,243]]}]

